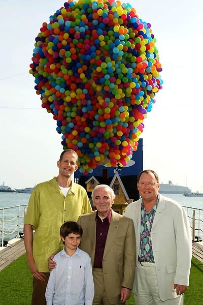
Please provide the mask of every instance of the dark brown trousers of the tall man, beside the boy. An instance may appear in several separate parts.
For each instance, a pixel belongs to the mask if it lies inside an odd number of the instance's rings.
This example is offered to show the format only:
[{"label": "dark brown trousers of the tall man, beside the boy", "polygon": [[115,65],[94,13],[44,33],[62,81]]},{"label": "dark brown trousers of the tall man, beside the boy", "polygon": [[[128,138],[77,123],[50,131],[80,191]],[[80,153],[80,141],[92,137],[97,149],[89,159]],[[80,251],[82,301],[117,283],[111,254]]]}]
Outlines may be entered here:
[{"label": "dark brown trousers of the tall man, beside the boy", "polygon": [[31,305],[46,305],[45,292],[49,280],[49,272],[44,272],[44,275],[46,276],[46,280],[44,282],[38,281],[33,277]]}]

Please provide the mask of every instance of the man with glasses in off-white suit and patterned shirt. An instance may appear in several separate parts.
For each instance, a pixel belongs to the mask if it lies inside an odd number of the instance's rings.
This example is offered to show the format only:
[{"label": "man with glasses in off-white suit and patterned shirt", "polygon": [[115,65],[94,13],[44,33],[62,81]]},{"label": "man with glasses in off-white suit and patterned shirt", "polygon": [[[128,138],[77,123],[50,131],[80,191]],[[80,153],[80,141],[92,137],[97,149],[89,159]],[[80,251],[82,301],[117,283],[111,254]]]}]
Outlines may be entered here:
[{"label": "man with glasses in off-white suit and patterned shirt", "polygon": [[130,203],[124,214],[133,220],[136,231],[136,305],[183,304],[192,256],[186,212],[158,193],[159,179],[153,170],[139,174],[138,190],[142,199]]}]

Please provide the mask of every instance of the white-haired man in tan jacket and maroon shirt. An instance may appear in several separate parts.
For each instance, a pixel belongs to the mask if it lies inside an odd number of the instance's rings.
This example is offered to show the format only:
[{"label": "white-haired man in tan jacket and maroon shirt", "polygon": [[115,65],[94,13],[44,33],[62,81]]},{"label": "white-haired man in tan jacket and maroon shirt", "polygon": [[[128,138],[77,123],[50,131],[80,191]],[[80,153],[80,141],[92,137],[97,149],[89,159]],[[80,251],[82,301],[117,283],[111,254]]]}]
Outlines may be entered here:
[{"label": "white-haired man in tan jacket and maroon shirt", "polygon": [[92,192],[96,211],[79,217],[81,249],[92,261],[93,305],[125,304],[131,295],[136,263],[133,221],[112,210],[115,194],[107,185]]}]

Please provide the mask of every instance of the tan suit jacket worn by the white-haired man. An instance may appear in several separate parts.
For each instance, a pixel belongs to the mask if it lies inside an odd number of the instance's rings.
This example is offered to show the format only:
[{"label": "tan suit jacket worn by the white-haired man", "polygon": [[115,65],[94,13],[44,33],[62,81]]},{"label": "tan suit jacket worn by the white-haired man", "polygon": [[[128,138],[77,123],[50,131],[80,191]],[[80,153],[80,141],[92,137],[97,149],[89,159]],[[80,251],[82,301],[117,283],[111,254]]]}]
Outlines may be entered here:
[{"label": "tan suit jacket worn by the white-haired man", "polygon": [[[78,223],[83,228],[80,248],[87,252],[94,265],[96,212],[82,215]],[[136,237],[133,221],[112,211],[111,223],[103,257],[106,296],[112,304],[120,299],[121,287],[132,289],[136,262]]]}]

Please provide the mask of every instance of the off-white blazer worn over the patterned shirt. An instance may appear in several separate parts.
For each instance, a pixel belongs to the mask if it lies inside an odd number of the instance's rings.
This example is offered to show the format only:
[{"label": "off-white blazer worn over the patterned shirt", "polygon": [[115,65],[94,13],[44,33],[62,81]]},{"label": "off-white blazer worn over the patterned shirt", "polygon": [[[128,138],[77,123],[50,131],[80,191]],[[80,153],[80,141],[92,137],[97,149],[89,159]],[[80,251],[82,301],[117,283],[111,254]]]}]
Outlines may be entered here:
[{"label": "off-white blazer worn over the patterned shirt", "polygon": [[[137,253],[140,248],[140,222],[142,199],[130,203],[125,217],[134,222]],[[159,194],[159,203],[152,229],[152,249],[157,274],[159,297],[162,301],[176,298],[174,284],[189,285],[192,257],[192,237],[184,208],[176,201]],[[137,264],[133,292],[137,294]]]}]

